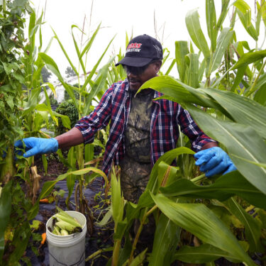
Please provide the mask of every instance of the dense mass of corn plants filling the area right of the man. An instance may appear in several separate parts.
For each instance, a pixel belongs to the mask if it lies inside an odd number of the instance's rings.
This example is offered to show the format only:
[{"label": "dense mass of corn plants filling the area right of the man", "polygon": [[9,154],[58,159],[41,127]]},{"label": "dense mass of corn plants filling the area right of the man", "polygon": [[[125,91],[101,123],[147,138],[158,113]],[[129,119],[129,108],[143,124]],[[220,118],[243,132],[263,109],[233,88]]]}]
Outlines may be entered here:
[{"label": "dense mass of corn plants filling the area right of the man", "polygon": [[[153,88],[162,92],[162,98],[187,109],[199,127],[227,150],[238,170],[212,179],[206,179],[204,174],[195,177],[192,150],[179,147],[162,155],[138,204],[127,202],[126,216],[116,225],[115,239],[121,242],[125,238],[125,245],[113,265],[141,265],[144,260],[149,265],[171,265],[175,260],[214,265],[214,260],[221,257],[233,263],[256,265],[251,256],[264,260],[266,54],[257,44],[251,50],[246,41],[237,41],[233,26],[238,17],[257,41],[260,21],[263,19],[265,23],[265,1],[256,2],[255,26],[250,20],[248,4],[235,1],[231,25],[224,28],[229,2],[222,1],[221,14],[216,20],[214,1],[206,1],[210,47],[197,11],[189,11],[186,24],[193,44],[176,42],[179,79],[155,77],[140,90]],[[193,45],[199,49],[198,53]],[[186,138],[179,145],[187,146]],[[178,167],[172,166],[176,158]],[[180,159],[184,158],[189,162],[187,170],[182,169],[184,163]],[[151,214],[157,224],[153,252],[145,258],[143,250],[141,258],[134,260],[135,242],[145,218]],[[140,219],[139,231],[133,243],[128,243],[128,230],[135,218]],[[180,232],[184,230],[192,234],[194,246],[182,243]]]}]

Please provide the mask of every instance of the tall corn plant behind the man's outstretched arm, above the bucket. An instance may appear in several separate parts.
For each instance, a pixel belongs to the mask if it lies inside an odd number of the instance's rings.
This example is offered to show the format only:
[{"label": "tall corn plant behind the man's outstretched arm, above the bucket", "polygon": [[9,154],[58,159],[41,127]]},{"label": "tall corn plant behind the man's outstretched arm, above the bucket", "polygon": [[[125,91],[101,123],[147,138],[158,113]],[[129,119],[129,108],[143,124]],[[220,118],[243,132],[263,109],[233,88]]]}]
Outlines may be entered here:
[{"label": "tall corn plant behind the man's outstretched arm, above the bucket", "polygon": [[[100,25],[96,28],[96,30],[92,33],[92,36],[89,36],[88,39],[85,41],[85,43],[81,43],[80,46],[78,45],[76,41],[76,35],[74,34],[75,31],[78,31],[82,35],[82,39],[84,38],[84,29],[80,29],[77,26],[72,26],[72,40],[74,43],[74,47],[77,52],[77,58],[78,58],[78,66],[76,67],[72,60],[70,59],[70,56],[67,54],[67,51],[65,50],[63,44],[60,42],[60,38],[57,36],[57,33],[54,31],[54,38],[57,40],[57,42],[60,45],[60,48],[62,49],[62,52],[64,53],[65,57],[67,58],[68,62],[70,63],[70,66],[72,67],[72,70],[75,74],[77,74],[78,78],[78,85],[77,87],[74,87],[70,84],[67,84],[62,75],[60,74],[60,70],[58,69],[56,63],[54,60],[52,60],[51,57],[49,57],[45,52],[39,53],[40,58],[45,62],[45,65],[48,67],[49,70],[51,70],[57,78],[60,80],[61,84],[67,91],[67,94],[69,94],[70,99],[72,99],[72,102],[74,106],[77,108],[79,113],[79,118],[82,118],[82,116],[88,115],[92,109],[92,101],[99,101],[101,96],[104,94],[105,90],[108,87],[108,84],[106,82],[106,78],[109,74],[109,66],[113,62],[114,57],[111,57],[109,62],[107,62],[106,65],[101,67],[100,70],[98,70],[98,67],[106,54],[109,46],[111,45],[112,40],[107,45],[104,52],[99,57],[99,60],[96,62],[96,65],[92,67],[92,70],[87,70],[87,60],[89,58],[89,50],[92,47],[92,44],[94,43],[94,39],[96,38],[96,35],[99,33]],[[84,78],[84,83],[82,84],[81,77]],[[79,94],[79,99],[76,99],[74,96],[74,91]],[[99,134],[102,134],[104,141],[106,141],[106,133],[104,131],[100,131]],[[58,151],[57,153],[60,155],[60,158],[62,159],[62,162],[65,162],[65,164],[69,167],[69,172],[73,172],[76,170],[76,165],[78,165],[79,170],[83,170],[84,168],[87,168],[87,163],[89,161],[92,161],[94,158],[94,145],[99,145],[99,138],[94,141],[92,144],[87,145],[78,145],[76,147],[70,148],[67,160],[64,159],[62,156],[62,153]],[[100,143],[101,145],[101,143]],[[101,147],[104,147],[104,145],[101,145]],[[89,163],[90,164],[90,163]],[[90,210],[89,206],[87,204],[87,200],[84,198],[83,195],[83,188],[92,181],[95,177],[99,176],[99,174],[90,174],[84,176],[84,174],[79,175],[77,178],[77,175],[74,174],[67,174],[67,188],[68,188],[68,197],[67,197],[67,204],[68,199],[70,198],[73,190],[74,190],[74,184],[76,180],[78,181],[78,185],[75,188],[75,199],[76,199],[76,210],[81,211],[83,214],[87,213],[90,217]],[[108,182],[106,183],[106,185]],[[90,222],[89,232],[92,233],[92,219]]]}]

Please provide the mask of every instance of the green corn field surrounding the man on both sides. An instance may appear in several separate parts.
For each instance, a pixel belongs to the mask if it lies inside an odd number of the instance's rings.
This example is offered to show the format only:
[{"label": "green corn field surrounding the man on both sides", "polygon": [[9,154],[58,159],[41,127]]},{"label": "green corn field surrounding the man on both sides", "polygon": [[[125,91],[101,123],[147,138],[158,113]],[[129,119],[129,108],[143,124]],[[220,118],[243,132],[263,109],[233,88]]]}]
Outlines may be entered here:
[{"label": "green corn field surrounding the man on both sides", "polygon": [[[256,11],[252,19],[254,3]],[[222,6],[221,13],[216,12],[216,4]],[[177,148],[157,160],[145,192],[138,204],[133,204],[123,199],[118,171],[113,167],[110,177],[106,177],[99,167],[108,140],[108,126],[99,131],[92,144],[77,145],[67,152],[58,150],[57,155],[68,170],[42,187],[35,158],[26,159],[13,148],[16,140],[22,138],[50,138],[43,128],[54,130],[59,119],[70,129],[70,118],[51,108],[48,89],[56,94],[55,86],[43,82],[43,67],[57,77],[82,118],[94,109],[93,103],[99,102],[113,82],[126,78],[123,67],[115,67],[123,57],[123,48],[104,62],[113,39],[106,41],[106,48],[98,51],[96,65],[88,69],[90,49],[101,35],[101,25],[90,35],[73,25],[70,41],[76,54],[70,55],[67,44],[60,41],[55,31],[48,47],[43,48],[42,40],[48,38],[41,31],[43,13],[38,17],[28,0],[3,0],[0,5],[0,265],[31,265],[25,255],[31,248],[31,225],[40,200],[47,198],[59,181],[67,182],[67,206],[74,192],[76,210],[87,217],[92,229],[96,221],[84,190],[100,178],[104,180],[105,209],[97,224],[104,228],[110,221],[113,223],[113,246],[87,257],[86,265],[93,265],[93,257],[110,252],[106,265],[112,266],[266,265],[266,50],[261,40],[266,32],[266,1],[206,0],[206,18],[199,20],[198,11],[192,9],[184,19],[189,42],[172,40],[175,51],[164,49],[162,69],[166,70],[145,82],[139,92],[155,89],[163,94],[163,99],[187,109],[204,133],[226,150],[238,170],[206,178],[194,165],[189,139],[181,134]],[[230,19],[230,27],[223,27],[225,19]],[[236,20],[254,40],[255,47],[247,40],[238,39]],[[207,33],[201,28],[204,23]],[[81,35],[83,43],[78,43]],[[131,37],[126,35],[126,43]],[[77,86],[65,82],[56,59],[48,55],[54,43],[60,46],[74,74],[83,76],[84,82],[79,80]],[[74,57],[78,58],[78,65],[74,64]],[[174,68],[177,77],[172,75]],[[40,104],[42,91],[45,103]],[[95,157],[96,146],[102,151]],[[172,165],[174,160],[177,166]],[[42,162],[47,171],[49,162],[45,155]],[[150,240],[153,250],[148,253],[144,249],[135,255],[149,216],[156,223],[155,235]],[[130,229],[135,219],[139,221],[138,233],[131,239]],[[223,264],[218,264],[219,261]]]}]

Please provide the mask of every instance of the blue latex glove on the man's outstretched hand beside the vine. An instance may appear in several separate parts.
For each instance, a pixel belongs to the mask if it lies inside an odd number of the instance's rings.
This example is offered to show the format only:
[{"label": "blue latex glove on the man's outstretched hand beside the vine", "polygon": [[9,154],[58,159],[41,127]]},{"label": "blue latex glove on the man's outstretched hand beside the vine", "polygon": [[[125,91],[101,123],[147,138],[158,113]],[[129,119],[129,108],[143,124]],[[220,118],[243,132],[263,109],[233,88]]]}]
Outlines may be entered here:
[{"label": "blue latex glove on the man's outstretched hand beside the vine", "polygon": [[23,138],[17,140],[14,144],[16,148],[23,149],[25,143],[25,151],[23,157],[31,157],[36,154],[55,153],[58,150],[58,142],[55,138]]}]

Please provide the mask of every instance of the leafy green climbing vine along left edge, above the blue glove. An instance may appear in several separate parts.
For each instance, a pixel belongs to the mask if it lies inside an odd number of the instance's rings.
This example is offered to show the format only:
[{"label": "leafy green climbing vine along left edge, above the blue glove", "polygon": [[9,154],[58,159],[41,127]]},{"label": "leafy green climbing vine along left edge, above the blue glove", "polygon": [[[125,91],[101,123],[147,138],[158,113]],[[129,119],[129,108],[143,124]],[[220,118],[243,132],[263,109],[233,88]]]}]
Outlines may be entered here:
[{"label": "leafy green climbing vine along left edge, above the blue glove", "polygon": [[[6,3],[6,1],[4,1]],[[21,131],[21,96],[25,72],[23,56],[24,23],[28,1],[8,1],[0,6],[0,157],[6,145],[13,145]],[[9,134],[6,134],[6,133]]]}]

